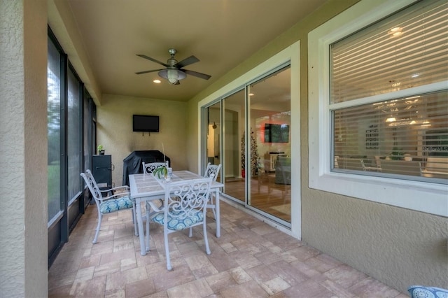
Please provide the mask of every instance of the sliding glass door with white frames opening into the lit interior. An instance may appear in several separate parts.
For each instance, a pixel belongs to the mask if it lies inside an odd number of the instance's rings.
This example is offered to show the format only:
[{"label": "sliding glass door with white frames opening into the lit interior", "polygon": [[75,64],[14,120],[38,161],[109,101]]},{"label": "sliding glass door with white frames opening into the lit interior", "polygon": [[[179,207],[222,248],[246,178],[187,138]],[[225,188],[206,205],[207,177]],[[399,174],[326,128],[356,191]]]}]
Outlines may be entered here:
[{"label": "sliding glass door with white frames opening into the lit interior", "polygon": [[290,225],[290,110],[289,65],[204,109],[204,160],[221,163],[223,196],[285,226]]}]

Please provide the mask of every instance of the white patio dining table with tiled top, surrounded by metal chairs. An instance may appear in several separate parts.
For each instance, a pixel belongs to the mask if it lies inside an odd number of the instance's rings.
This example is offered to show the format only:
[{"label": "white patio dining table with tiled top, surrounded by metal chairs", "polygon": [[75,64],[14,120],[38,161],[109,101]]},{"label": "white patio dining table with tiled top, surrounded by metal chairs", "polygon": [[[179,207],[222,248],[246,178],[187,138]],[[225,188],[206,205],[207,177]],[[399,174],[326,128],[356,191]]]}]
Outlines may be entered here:
[{"label": "white patio dining table with tiled top, surrounded by metal chairs", "polygon": [[[204,178],[197,173],[190,171],[173,171],[171,181],[181,181],[181,180],[191,180]],[[149,251],[149,246],[145,248],[145,232],[143,225],[143,214],[141,210],[141,203],[146,201],[165,199],[165,179],[156,178],[152,174],[133,174],[129,176],[131,198],[135,200],[136,204],[136,214],[137,214],[137,226],[140,240],[140,254],[146,255]],[[221,192],[221,187],[224,185],[217,181],[211,183],[211,191],[215,192],[215,208],[216,208],[216,237],[221,236],[220,228],[220,211],[219,211],[219,194]],[[147,211],[148,212],[148,211]],[[149,239],[147,239],[149,240]],[[149,241],[146,241],[149,243]]]}]

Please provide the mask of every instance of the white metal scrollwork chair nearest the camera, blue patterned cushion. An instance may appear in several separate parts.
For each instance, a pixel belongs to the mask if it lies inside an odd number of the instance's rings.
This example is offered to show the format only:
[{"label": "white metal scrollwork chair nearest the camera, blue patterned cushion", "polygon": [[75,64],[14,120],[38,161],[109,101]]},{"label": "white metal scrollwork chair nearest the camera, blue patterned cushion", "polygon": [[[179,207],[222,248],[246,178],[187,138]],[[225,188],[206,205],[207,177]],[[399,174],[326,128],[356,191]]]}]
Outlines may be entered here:
[{"label": "white metal scrollwork chair nearest the camera, blue patterned cushion", "polygon": [[[169,271],[172,270],[172,265],[169,258],[168,234],[202,225],[205,251],[207,255],[210,255],[209,240],[207,239],[206,211],[211,181],[212,178],[201,178],[166,183],[163,206],[154,206],[153,202],[149,201],[151,208],[156,213],[154,215],[146,213],[146,220],[147,222],[151,220],[163,226],[165,255]],[[146,229],[146,234],[148,241],[150,229]]]}]

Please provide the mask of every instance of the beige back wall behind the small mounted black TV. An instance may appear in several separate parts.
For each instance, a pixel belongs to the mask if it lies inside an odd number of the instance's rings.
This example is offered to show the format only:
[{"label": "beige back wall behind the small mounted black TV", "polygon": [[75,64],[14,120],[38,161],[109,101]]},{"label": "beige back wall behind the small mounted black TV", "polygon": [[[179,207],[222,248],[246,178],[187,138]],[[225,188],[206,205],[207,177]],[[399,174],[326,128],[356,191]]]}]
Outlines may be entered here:
[{"label": "beige back wall behind the small mounted black TV", "polygon": [[[112,155],[112,181],[123,184],[123,159],[134,150],[160,150],[174,171],[188,169],[186,102],[103,94],[97,106],[97,143]],[[132,115],[160,116],[160,132],[132,132]]]}]

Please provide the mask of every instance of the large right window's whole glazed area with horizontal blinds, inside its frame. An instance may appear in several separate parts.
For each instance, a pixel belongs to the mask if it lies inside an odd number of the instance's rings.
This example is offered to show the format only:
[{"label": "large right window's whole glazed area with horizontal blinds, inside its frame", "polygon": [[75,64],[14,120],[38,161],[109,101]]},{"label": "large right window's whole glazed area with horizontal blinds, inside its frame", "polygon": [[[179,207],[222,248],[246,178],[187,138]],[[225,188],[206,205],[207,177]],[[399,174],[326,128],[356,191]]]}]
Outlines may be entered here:
[{"label": "large right window's whole glazed area with horizontal blinds, inside its frame", "polygon": [[330,45],[333,171],[447,183],[447,15],[420,1]]}]

